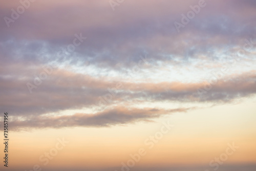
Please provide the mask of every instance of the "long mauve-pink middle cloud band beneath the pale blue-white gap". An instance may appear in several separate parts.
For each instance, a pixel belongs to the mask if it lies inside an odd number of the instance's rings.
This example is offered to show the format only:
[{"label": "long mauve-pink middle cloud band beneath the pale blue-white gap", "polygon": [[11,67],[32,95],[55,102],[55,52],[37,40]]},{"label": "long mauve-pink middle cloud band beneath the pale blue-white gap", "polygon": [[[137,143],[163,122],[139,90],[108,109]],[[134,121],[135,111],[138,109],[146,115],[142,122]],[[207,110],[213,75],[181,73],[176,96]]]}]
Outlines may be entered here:
[{"label": "long mauve-pink middle cloud band beneath the pale blue-white gap", "polygon": [[[30,93],[27,83],[34,75],[45,72],[45,66],[9,63],[0,68],[1,108],[17,116],[42,115],[68,109],[110,106],[131,101],[228,102],[256,93],[255,71],[227,75],[212,84],[212,89],[199,94],[207,82],[154,82],[123,80],[118,77],[95,77],[64,69],[53,69],[47,79]],[[49,66],[48,66],[49,67]],[[15,68],[15,70],[13,70]],[[103,101],[102,101],[103,99]]]}]

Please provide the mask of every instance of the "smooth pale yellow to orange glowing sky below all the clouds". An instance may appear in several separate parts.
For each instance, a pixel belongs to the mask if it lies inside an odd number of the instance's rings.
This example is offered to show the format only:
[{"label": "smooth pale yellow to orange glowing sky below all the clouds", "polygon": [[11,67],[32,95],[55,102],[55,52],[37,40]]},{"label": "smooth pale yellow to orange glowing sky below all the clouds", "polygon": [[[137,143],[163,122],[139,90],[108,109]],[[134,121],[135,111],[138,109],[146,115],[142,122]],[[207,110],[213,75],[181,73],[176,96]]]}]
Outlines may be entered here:
[{"label": "smooth pale yellow to orange glowing sky below all the clouds", "polygon": [[[168,115],[149,123],[12,132],[11,161],[13,166],[28,169],[35,164],[41,168],[58,165],[65,168],[70,167],[70,163],[74,169],[119,167],[122,162],[133,159],[130,155],[138,154],[142,148],[144,155],[135,162],[138,167],[208,165],[226,153],[228,143],[234,143],[239,148],[228,156],[225,164],[254,163],[256,117],[253,109],[254,102],[247,100],[241,104]],[[162,137],[157,135],[167,121],[173,127]],[[155,138],[150,139],[150,136]],[[51,149],[58,143],[56,137],[69,143],[52,156],[55,151]],[[10,168],[18,168],[13,166]]]}]

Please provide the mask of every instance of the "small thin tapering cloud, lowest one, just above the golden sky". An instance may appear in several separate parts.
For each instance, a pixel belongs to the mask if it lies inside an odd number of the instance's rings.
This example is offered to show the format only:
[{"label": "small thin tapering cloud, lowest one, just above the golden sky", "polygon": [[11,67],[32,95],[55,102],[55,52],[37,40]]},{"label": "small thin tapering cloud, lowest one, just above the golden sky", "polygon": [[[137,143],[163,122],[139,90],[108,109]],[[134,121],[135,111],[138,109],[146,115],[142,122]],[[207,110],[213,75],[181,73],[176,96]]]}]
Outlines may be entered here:
[{"label": "small thin tapering cloud, lowest one, just above the golden sky", "polygon": [[61,128],[61,127],[105,127],[120,124],[129,124],[139,121],[149,121],[149,119],[158,118],[162,115],[176,112],[187,112],[189,108],[178,108],[172,110],[163,110],[155,108],[125,108],[118,106],[114,109],[105,110],[95,114],[76,113],[71,116],[33,116],[23,118],[22,120],[14,119],[12,121],[13,130],[28,128]]}]

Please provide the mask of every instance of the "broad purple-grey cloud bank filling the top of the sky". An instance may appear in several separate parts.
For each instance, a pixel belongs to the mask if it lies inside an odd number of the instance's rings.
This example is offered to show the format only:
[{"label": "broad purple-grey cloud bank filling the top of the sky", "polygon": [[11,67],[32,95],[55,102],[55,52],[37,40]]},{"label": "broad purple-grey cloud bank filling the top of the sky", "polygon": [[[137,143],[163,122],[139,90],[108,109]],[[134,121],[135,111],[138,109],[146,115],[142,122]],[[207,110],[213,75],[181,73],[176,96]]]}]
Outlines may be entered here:
[{"label": "broad purple-grey cloud bank filling the top of the sky", "polygon": [[[177,33],[173,23],[180,22],[181,14],[197,4],[198,1],[129,1],[114,12],[108,1],[37,1],[12,27],[7,28],[2,20],[0,37],[2,41],[13,39],[13,44],[24,44],[26,40],[28,49],[20,55],[30,59],[50,56],[42,58],[47,63],[56,59],[61,47],[72,42],[74,34],[82,33],[88,39],[76,48],[70,63],[90,61],[98,67],[113,69],[119,62],[123,67],[131,67],[144,52],[163,61],[187,60],[206,53],[215,58],[209,51],[237,46],[255,34],[255,5],[251,1],[207,1],[206,7]],[[10,9],[18,5],[5,3],[2,16],[10,16]],[[195,48],[191,50],[192,47]],[[22,49],[7,48],[9,52]]]}]

